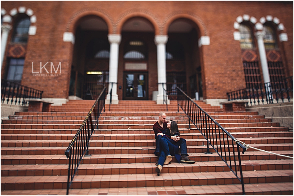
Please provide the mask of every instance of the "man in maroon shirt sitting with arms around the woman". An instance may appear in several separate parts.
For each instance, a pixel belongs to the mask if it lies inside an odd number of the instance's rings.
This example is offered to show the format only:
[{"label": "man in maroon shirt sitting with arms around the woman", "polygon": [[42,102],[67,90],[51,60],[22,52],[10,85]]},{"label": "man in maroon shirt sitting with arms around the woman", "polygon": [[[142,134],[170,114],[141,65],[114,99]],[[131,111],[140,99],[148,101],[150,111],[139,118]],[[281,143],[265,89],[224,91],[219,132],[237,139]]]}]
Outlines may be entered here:
[{"label": "man in maroon shirt sitting with arms around the woman", "polygon": [[[156,149],[155,149],[154,155],[158,156],[158,158],[160,155],[160,139],[162,138],[162,136],[158,135],[158,133],[163,133],[164,135],[166,135],[167,122],[165,120],[166,120],[166,114],[164,112],[160,112],[158,115],[158,121],[153,125],[153,131],[155,134],[155,141],[156,141]],[[166,135],[166,137],[176,142],[180,140],[179,136]],[[181,149],[181,163],[194,163],[194,161],[190,160],[187,157],[188,154],[187,154],[187,146],[186,146],[185,139],[181,140],[180,149]],[[158,159],[155,165],[157,165],[157,163],[158,163]]]}]

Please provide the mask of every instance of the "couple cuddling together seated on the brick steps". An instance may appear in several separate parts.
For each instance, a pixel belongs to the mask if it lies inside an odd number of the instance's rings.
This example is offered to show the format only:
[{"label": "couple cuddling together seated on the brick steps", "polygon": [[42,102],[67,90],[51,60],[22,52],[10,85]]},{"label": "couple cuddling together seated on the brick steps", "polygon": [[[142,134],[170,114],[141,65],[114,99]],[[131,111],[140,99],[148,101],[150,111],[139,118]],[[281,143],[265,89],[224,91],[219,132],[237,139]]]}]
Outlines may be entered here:
[{"label": "couple cuddling together seated on the brick steps", "polygon": [[[155,156],[158,156],[156,161],[157,168],[155,171],[159,176],[162,166],[171,163],[171,156],[175,156],[179,163],[195,163],[187,156],[186,140],[180,138],[178,124],[175,121],[166,120],[164,112],[159,113],[158,121],[153,125],[153,131],[156,140]],[[179,155],[181,150],[181,156]]]}]

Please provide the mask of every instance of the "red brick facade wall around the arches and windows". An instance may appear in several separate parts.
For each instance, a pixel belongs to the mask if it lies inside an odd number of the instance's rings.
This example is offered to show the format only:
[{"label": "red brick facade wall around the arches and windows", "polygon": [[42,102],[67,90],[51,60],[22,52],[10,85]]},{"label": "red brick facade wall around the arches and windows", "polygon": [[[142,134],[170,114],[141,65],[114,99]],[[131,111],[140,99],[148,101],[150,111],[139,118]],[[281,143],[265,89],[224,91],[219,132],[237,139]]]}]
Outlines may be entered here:
[{"label": "red brick facade wall around the arches and windows", "polygon": [[[245,87],[244,71],[239,41],[234,40],[233,24],[239,15],[248,14],[257,20],[266,15],[277,17],[285,26],[288,42],[279,44],[283,64],[288,75],[293,75],[293,3],[285,2],[201,2],[201,1],[3,1],[1,7],[8,13],[13,8],[31,8],[37,16],[36,35],[30,35],[24,64],[22,84],[43,90],[44,98],[68,98],[73,45],[63,42],[63,33],[75,33],[80,17],[96,14],[105,19],[109,33],[120,33],[123,22],[133,16],[141,16],[155,25],[155,34],[168,30],[172,20],[189,18],[199,28],[199,36],[210,37],[210,45],[199,49],[204,99],[226,98],[226,92]],[[12,32],[12,31],[11,31]],[[9,38],[9,40],[11,37]],[[197,38],[198,40],[198,38]],[[154,43],[154,42],[153,42]],[[149,58],[149,99],[157,90],[156,46],[151,46]],[[150,48],[150,49],[151,49]],[[121,59],[120,51],[120,59]],[[62,76],[33,77],[34,69],[44,62],[57,66],[62,62]],[[47,70],[50,66],[46,66]],[[1,78],[5,77],[6,57]],[[42,70],[44,73],[45,70]],[[287,76],[288,76],[287,75]],[[119,61],[118,82],[122,83],[122,61]],[[117,90],[119,99],[122,90]]]}]

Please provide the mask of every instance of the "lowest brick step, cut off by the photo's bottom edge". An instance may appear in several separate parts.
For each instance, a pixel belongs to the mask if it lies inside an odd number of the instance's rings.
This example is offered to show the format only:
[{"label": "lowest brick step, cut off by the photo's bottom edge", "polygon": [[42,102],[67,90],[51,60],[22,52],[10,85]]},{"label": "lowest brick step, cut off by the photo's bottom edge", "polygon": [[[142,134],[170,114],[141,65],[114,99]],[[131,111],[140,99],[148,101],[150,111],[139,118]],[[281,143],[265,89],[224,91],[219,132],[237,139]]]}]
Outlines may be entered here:
[{"label": "lowest brick step, cut off by the photo's bottom edge", "polygon": [[[258,183],[244,185],[247,195],[293,195],[293,183]],[[268,190],[268,191],[266,191]],[[5,190],[2,195],[65,195],[64,189]],[[130,187],[72,189],[74,195],[242,195],[241,185]]]}]

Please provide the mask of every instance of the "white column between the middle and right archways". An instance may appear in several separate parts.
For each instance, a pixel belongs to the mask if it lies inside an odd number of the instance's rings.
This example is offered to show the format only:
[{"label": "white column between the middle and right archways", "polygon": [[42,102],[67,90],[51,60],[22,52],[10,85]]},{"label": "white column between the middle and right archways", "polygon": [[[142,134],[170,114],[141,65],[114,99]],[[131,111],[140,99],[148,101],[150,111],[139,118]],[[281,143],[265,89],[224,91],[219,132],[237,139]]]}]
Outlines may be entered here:
[{"label": "white column between the middle and right archways", "polygon": [[[158,95],[157,104],[163,104],[163,89],[162,84],[165,83],[164,89],[166,90],[166,42],[167,35],[155,35],[154,42],[157,45],[157,81],[158,81]],[[169,101],[169,100],[168,100]]]}]

